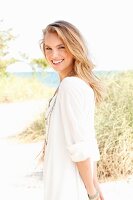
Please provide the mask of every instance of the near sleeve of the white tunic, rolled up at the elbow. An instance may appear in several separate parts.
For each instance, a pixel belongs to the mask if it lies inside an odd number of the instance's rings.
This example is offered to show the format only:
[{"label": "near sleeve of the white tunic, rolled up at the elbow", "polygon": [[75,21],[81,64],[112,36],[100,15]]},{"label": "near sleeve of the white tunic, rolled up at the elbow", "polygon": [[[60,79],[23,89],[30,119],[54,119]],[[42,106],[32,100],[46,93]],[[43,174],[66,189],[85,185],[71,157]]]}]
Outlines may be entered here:
[{"label": "near sleeve of the white tunic, rolled up at the elbow", "polygon": [[[90,90],[90,91],[89,91]],[[94,94],[91,89],[64,82],[59,90],[59,108],[66,148],[74,162],[100,159],[94,129]]]}]

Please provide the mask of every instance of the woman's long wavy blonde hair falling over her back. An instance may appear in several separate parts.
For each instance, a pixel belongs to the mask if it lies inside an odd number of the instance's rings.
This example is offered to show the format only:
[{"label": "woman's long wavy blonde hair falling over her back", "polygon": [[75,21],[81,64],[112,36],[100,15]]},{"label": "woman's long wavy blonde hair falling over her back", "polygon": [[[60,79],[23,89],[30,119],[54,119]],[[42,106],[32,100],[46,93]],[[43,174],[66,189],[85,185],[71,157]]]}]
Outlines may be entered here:
[{"label": "woman's long wavy blonde hair falling over her back", "polygon": [[55,21],[43,30],[43,39],[40,46],[45,55],[45,35],[47,32],[56,32],[63,41],[66,49],[74,57],[74,73],[87,82],[94,91],[96,103],[103,99],[103,85],[101,80],[93,73],[95,65],[88,55],[88,48],[79,30],[67,21]]}]

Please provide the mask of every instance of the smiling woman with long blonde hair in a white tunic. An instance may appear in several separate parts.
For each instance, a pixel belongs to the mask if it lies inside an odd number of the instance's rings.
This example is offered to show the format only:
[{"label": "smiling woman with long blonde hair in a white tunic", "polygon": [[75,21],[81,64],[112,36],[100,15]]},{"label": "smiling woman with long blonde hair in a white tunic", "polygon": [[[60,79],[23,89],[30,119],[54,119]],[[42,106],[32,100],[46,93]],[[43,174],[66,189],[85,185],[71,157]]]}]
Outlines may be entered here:
[{"label": "smiling woman with long blonde hair in a white tunic", "polygon": [[44,200],[103,200],[94,130],[94,108],[102,88],[85,42],[74,25],[56,21],[43,30],[41,47],[60,77],[46,112]]}]

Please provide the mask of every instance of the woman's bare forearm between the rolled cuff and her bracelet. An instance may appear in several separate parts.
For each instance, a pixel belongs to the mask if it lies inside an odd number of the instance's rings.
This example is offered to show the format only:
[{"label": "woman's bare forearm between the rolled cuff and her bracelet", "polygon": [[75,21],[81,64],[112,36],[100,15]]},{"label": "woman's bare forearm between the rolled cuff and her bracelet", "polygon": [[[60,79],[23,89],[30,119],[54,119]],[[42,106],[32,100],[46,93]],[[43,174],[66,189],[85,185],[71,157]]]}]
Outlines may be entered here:
[{"label": "woman's bare forearm between the rolled cuff and her bracelet", "polygon": [[76,165],[80,173],[80,176],[84,182],[84,185],[86,187],[87,193],[90,196],[95,195],[97,191],[93,181],[93,172],[92,172],[93,169],[91,167],[90,159],[76,162]]}]

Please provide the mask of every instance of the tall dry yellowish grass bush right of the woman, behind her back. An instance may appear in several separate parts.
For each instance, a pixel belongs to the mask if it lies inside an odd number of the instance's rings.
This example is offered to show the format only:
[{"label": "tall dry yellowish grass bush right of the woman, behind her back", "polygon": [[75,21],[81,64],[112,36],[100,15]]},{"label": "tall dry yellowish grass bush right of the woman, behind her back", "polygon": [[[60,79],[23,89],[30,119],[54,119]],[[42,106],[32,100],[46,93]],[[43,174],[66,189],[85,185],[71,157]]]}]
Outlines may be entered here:
[{"label": "tall dry yellowish grass bush right of the woman, behind her back", "polygon": [[107,95],[96,110],[101,180],[133,173],[133,72],[108,77]]}]

